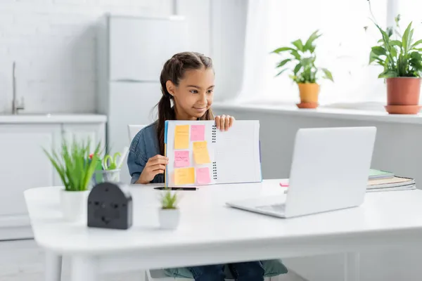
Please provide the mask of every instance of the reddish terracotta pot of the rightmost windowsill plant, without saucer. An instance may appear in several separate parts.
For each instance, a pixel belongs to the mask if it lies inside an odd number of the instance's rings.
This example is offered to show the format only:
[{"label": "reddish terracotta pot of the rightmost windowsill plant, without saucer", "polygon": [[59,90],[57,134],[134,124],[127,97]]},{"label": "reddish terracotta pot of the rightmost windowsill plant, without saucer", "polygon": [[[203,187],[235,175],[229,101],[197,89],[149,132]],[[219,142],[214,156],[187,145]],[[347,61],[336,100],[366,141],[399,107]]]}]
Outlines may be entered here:
[{"label": "reddish terracotta pot of the rightmost windowsill plant, without saucer", "polygon": [[421,78],[387,78],[388,105],[418,105],[421,92]]}]

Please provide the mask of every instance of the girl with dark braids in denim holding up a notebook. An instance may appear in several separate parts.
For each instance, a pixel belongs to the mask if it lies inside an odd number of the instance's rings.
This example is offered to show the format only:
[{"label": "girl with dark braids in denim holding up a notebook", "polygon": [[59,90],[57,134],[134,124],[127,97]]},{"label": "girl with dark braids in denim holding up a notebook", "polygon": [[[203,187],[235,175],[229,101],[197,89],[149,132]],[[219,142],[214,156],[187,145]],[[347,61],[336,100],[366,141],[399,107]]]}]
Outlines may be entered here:
[{"label": "girl with dark braids in denim holding up a notebook", "polygon": [[[167,60],[160,75],[162,97],[158,120],[136,134],[129,148],[127,165],[132,183],[164,183],[164,126],[166,120],[213,120],[218,129],[228,130],[234,122],[229,115],[212,115],[215,74],[212,60],[200,53],[185,52]],[[173,106],[172,106],[173,101]],[[264,280],[260,261],[231,263],[231,273],[238,281]],[[189,268],[196,281],[223,281],[224,265]]]}]

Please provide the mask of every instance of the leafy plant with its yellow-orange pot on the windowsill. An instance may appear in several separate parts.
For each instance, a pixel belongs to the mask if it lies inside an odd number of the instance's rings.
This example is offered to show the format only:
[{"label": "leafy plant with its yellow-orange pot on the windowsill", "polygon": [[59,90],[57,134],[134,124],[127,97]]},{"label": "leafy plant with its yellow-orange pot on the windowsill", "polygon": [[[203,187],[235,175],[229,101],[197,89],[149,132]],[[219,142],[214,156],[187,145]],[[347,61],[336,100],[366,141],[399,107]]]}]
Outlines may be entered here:
[{"label": "leafy plant with its yellow-orange pot on the windowsill", "polygon": [[[316,81],[319,79],[319,70],[324,73],[322,78],[333,81],[333,75],[326,68],[319,68],[315,66],[316,54],[314,41],[318,39],[321,34],[318,34],[318,30],[311,34],[305,44],[302,40],[298,39],[293,41],[293,46],[285,46],[276,48],[271,53],[283,55],[283,59],[278,63],[276,68],[281,69],[276,76],[279,76],[288,68],[288,63],[294,63],[293,74],[289,77],[298,84],[300,108],[316,108],[318,107],[318,96],[319,96],[319,84]],[[285,54],[288,56],[284,56]]]}]

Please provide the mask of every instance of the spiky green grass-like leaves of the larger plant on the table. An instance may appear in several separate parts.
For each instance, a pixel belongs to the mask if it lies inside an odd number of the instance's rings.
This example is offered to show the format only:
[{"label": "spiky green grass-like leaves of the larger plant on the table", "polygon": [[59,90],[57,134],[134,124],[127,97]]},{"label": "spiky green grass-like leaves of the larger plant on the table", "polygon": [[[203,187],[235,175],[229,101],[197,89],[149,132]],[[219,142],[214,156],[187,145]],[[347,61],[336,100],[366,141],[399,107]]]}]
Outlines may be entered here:
[{"label": "spiky green grass-like leaves of the larger plant on the table", "polygon": [[98,163],[100,153],[100,143],[96,146],[95,152],[90,157],[90,141],[78,143],[73,139],[69,146],[67,141],[61,145],[60,155],[55,150],[51,153],[44,149],[51,164],[58,172],[60,179],[65,185],[66,191],[88,190],[89,182]]}]

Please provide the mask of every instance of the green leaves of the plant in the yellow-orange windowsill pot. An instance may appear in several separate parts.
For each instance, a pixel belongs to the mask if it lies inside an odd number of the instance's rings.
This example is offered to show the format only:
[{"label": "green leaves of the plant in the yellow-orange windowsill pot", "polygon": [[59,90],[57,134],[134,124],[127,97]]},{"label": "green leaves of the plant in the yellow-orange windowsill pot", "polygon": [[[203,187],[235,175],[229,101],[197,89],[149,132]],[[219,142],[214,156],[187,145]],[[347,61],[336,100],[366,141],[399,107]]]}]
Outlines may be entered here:
[{"label": "green leaves of the plant in the yellow-orange windowsill pot", "polygon": [[279,55],[284,55],[288,53],[289,57],[284,57],[276,66],[276,68],[282,68],[276,76],[279,76],[288,68],[286,68],[287,63],[295,62],[295,67],[293,68],[293,74],[289,75],[293,81],[296,83],[316,83],[316,80],[319,78],[319,70],[324,72],[322,78],[329,79],[333,81],[333,75],[326,68],[319,68],[315,66],[316,54],[315,54],[315,45],[314,41],[321,37],[321,34],[318,34],[318,30],[311,34],[307,39],[305,44],[302,43],[302,40],[298,39],[293,41],[291,44],[293,46],[286,46],[281,48],[276,48],[271,53],[276,53]]}]

